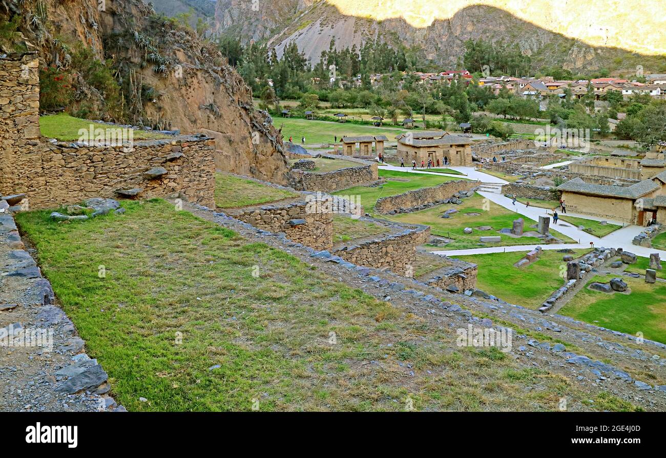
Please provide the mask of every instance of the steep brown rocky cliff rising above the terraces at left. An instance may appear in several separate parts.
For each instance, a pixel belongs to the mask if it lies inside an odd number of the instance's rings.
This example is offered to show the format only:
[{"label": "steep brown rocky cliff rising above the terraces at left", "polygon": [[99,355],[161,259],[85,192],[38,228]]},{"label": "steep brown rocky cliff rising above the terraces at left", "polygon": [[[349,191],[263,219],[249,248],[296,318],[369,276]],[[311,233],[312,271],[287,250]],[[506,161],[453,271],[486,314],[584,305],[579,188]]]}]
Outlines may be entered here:
[{"label": "steep brown rocky cliff rising above the terraces at left", "polygon": [[[22,19],[24,41],[39,50],[43,65],[66,68],[77,41],[93,57],[106,59],[124,94],[126,122],[182,133],[221,132],[226,141],[218,148],[250,164],[254,176],[288,182],[278,132],[267,114],[254,111],[250,89],[213,45],[140,0],[107,1],[103,11],[97,5],[97,0],[26,0],[23,7],[3,9],[0,3],[0,18]],[[87,83],[79,78],[75,98],[103,105],[105,94]]]}]

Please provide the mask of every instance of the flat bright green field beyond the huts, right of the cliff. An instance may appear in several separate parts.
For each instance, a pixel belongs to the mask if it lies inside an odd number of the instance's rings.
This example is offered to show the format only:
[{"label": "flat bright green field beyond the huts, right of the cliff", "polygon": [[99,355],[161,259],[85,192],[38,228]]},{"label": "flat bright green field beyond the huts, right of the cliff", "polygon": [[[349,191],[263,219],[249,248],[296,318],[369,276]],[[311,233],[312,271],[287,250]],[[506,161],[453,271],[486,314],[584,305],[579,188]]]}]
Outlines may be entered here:
[{"label": "flat bright green field beyond the huts, right of the cliff", "polygon": [[330,143],[334,144],[334,136],[338,136],[338,142],[342,136],[359,135],[386,135],[390,142],[396,141],[395,136],[408,130],[400,127],[375,127],[362,124],[351,124],[348,122],[316,121],[298,118],[275,118],[273,125],[280,128],[284,140],[293,137],[294,143],[300,144],[300,138],[305,137],[306,144]]}]

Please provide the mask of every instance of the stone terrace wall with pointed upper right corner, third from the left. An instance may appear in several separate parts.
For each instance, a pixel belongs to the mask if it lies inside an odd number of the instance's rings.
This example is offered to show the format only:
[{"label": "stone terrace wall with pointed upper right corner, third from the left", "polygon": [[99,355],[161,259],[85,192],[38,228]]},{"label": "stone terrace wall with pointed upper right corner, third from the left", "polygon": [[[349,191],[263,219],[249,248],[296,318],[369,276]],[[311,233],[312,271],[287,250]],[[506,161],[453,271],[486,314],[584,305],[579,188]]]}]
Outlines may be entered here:
[{"label": "stone terrace wall with pointed upper right corner, third from the left", "polygon": [[416,247],[428,242],[428,238],[430,226],[415,226],[385,238],[345,246],[333,254],[359,266],[387,267],[396,274],[410,276]]}]

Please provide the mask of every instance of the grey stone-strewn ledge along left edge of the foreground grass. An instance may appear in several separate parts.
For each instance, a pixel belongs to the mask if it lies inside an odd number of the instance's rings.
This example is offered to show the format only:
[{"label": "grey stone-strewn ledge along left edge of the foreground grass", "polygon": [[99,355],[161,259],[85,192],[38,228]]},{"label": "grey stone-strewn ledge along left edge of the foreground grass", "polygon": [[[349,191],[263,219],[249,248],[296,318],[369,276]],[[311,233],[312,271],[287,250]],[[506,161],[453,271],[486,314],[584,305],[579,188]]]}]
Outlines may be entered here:
[{"label": "grey stone-strewn ledge along left edge of the foreground grass", "polygon": [[0,285],[0,351],[11,353],[7,364],[19,369],[0,367],[0,411],[125,411],[107,394],[107,373],[85,353],[6,209],[0,212]]}]

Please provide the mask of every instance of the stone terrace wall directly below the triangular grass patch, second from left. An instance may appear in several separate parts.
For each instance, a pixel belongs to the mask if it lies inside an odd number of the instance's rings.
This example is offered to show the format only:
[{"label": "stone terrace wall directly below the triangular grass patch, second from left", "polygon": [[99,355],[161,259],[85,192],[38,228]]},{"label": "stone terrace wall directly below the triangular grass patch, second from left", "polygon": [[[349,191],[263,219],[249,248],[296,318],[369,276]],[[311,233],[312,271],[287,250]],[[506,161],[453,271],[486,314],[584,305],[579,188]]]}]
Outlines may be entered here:
[{"label": "stone terrace wall directly below the triangular grass patch, second from left", "polygon": [[292,242],[328,250],[333,246],[333,214],[312,212],[304,201],[225,210],[228,216],[270,232],[284,232]]}]

